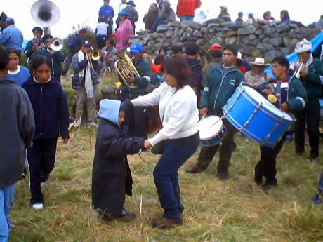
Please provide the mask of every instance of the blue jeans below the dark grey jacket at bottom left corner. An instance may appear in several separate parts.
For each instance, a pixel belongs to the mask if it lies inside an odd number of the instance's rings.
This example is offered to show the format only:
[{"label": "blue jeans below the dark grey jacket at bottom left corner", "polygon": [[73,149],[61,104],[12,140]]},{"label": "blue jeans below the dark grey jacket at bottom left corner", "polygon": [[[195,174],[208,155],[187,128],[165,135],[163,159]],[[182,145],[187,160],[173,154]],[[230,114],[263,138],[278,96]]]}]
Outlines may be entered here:
[{"label": "blue jeans below the dark grey jacket at bottom left corner", "polygon": [[11,230],[10,210],[13,204],[16,184],[0,187],[0,242],[9,241]]}]

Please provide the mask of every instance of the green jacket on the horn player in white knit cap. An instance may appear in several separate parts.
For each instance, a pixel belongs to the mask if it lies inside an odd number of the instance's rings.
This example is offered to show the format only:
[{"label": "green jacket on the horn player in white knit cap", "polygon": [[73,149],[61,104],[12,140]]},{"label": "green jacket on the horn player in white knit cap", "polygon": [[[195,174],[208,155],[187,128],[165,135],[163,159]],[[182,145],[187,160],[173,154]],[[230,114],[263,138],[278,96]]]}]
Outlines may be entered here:
[{"label": "green jacket on the horn player in white knit cap", "polygon": [[322,95],[323,62],[315,59],[308,67],[308,76],[300,80],[308,93],[308,101],[318,100]]}]

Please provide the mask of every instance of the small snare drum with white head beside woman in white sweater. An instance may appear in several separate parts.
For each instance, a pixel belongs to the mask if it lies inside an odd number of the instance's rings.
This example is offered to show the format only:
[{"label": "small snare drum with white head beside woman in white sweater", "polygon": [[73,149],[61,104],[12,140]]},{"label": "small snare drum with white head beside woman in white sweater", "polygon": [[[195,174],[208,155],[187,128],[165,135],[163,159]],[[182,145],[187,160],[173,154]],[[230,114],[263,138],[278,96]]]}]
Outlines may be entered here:
[{"label": "small snare drum with white head beside woman in white sweater", "polygon": [[225,126],[220,117],[212,115],[199,121],[199,140],[203,146],[219,144],[225,137]]}]

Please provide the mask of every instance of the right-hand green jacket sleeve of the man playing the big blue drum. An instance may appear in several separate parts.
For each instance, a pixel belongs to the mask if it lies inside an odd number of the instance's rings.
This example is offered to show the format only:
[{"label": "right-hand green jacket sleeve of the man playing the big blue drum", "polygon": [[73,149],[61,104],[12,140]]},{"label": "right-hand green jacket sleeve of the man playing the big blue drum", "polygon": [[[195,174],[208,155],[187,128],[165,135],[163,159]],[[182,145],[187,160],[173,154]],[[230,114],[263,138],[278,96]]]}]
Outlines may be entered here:
[{"label": "right-hand green jacket sleeve of the man playing the big blue drum", "polygon": [[288,100],[289,109],[292,113],[302,111],[306,102],[306,90],[299,79],[293,77],[289,80]]}]

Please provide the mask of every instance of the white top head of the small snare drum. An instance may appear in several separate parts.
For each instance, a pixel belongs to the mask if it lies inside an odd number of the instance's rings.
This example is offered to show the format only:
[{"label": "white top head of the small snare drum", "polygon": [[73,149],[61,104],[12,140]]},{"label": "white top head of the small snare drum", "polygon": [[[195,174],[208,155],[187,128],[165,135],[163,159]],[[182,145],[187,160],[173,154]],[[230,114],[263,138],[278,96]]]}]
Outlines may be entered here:
[{"label": "white top head of the small snare drum", "polygon": [[207,116],[199,121],[200,140],[209,140],[220,133],[223,128],[223,121],[218,116]]}]

